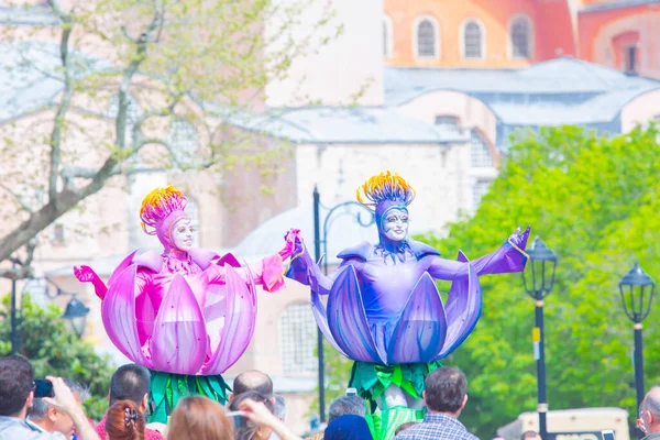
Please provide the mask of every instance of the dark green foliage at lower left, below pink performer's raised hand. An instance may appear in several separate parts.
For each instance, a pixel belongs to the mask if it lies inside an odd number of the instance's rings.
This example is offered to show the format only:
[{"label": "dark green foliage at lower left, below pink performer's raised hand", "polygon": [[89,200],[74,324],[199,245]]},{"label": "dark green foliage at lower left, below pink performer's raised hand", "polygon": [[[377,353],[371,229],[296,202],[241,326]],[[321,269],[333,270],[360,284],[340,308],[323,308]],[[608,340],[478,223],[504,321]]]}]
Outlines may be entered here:
[{"label": "dark green foliage at lower left, below pink performer's raised hand", "polygon": [[[0,356],[11,353],[11,318],[9,297],[0,308]],[[23,297],[22,345],[19,354],[34,366],[35,377],[66,377],[89,387],[85,403],[88,417],[100,420],[108,408],[108,391],[113,369],[107,358],[99,356],[94,345],[79,340],[61,318],[55,305],[41,308]]]}]

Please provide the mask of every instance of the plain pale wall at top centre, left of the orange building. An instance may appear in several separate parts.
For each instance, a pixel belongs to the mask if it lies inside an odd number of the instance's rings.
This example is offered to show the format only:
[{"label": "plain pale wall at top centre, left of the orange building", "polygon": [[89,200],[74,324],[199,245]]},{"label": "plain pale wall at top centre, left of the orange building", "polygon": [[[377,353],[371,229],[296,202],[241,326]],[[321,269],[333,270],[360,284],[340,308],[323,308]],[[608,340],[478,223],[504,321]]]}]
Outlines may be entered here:
[{"label": "plain pale wall at top centre, left of the orange building", "polygon": [[[307,53],[295,58],[286,78],[274,78],[266,87],[266,105],[271,107],[383,103],[383,0],[300,1],[276,0],[278,7],[302,8],[295,28],[287,31],[294,41],[312,35]],[[318,26],[319,20],[331,20]],[[282,23],[266,23],[267,38],[279,32]],[[327,44],[319,42],[337,33]],[[271,51],[288,44],[278,38]]]}]

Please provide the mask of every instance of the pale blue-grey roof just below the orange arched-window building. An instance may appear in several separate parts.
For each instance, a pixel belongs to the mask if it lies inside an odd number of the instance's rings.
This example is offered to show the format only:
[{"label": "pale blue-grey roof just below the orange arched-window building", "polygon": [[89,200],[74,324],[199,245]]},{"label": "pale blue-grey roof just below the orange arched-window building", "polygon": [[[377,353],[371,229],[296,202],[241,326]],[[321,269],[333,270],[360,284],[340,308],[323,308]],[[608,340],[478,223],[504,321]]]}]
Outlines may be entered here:
[{"label": "pale blue-grey roof just below the orange arched-window building", "polygon": [[608,122],[660,81],[562,57],[522,69],[385,69],[385,102],[400,106],[421,95],[453,90],[486,103],[505,124]]}]

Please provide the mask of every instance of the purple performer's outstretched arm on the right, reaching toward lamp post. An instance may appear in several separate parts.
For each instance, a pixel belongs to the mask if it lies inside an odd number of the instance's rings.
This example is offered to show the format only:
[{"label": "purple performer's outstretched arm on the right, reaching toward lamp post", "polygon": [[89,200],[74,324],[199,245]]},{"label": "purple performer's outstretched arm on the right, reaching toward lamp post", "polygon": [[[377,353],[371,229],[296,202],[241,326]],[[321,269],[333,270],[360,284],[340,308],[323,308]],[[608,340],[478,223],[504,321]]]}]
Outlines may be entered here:
[{"label": "purple performer's outstretched arm on the right, reaching toward lamp post", "polygon": [[520,233],[520,228],[495,252],[491,252],[470,263],[426,256],[429,258],[429,274],[433,278],[453,280],[468,276],[468,265],[471,264],[479,276],[487,274],[507,274],[522,272],[527,264],[528,255],[525,253],[529,227]]}]

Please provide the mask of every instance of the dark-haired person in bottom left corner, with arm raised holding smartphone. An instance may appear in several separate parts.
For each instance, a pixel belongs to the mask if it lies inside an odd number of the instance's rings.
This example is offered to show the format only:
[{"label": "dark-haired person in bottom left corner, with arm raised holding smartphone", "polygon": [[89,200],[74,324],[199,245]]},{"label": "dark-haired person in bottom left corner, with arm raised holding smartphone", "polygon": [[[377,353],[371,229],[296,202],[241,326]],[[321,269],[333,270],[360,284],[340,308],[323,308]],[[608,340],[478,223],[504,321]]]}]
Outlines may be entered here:
[{"label": "dark-haired person in bottom left corner, with arm raised holding smartphone", "polygon": [[[46,380],[53,397],[44,397],[44,402],[70,416],[79,440],[100,440],[64,380]],[[25,422],[34,392],[34,370],[26,359],[11,355],[0,360],[0,440],[66,440],[61,432],[40,432]]]}]

